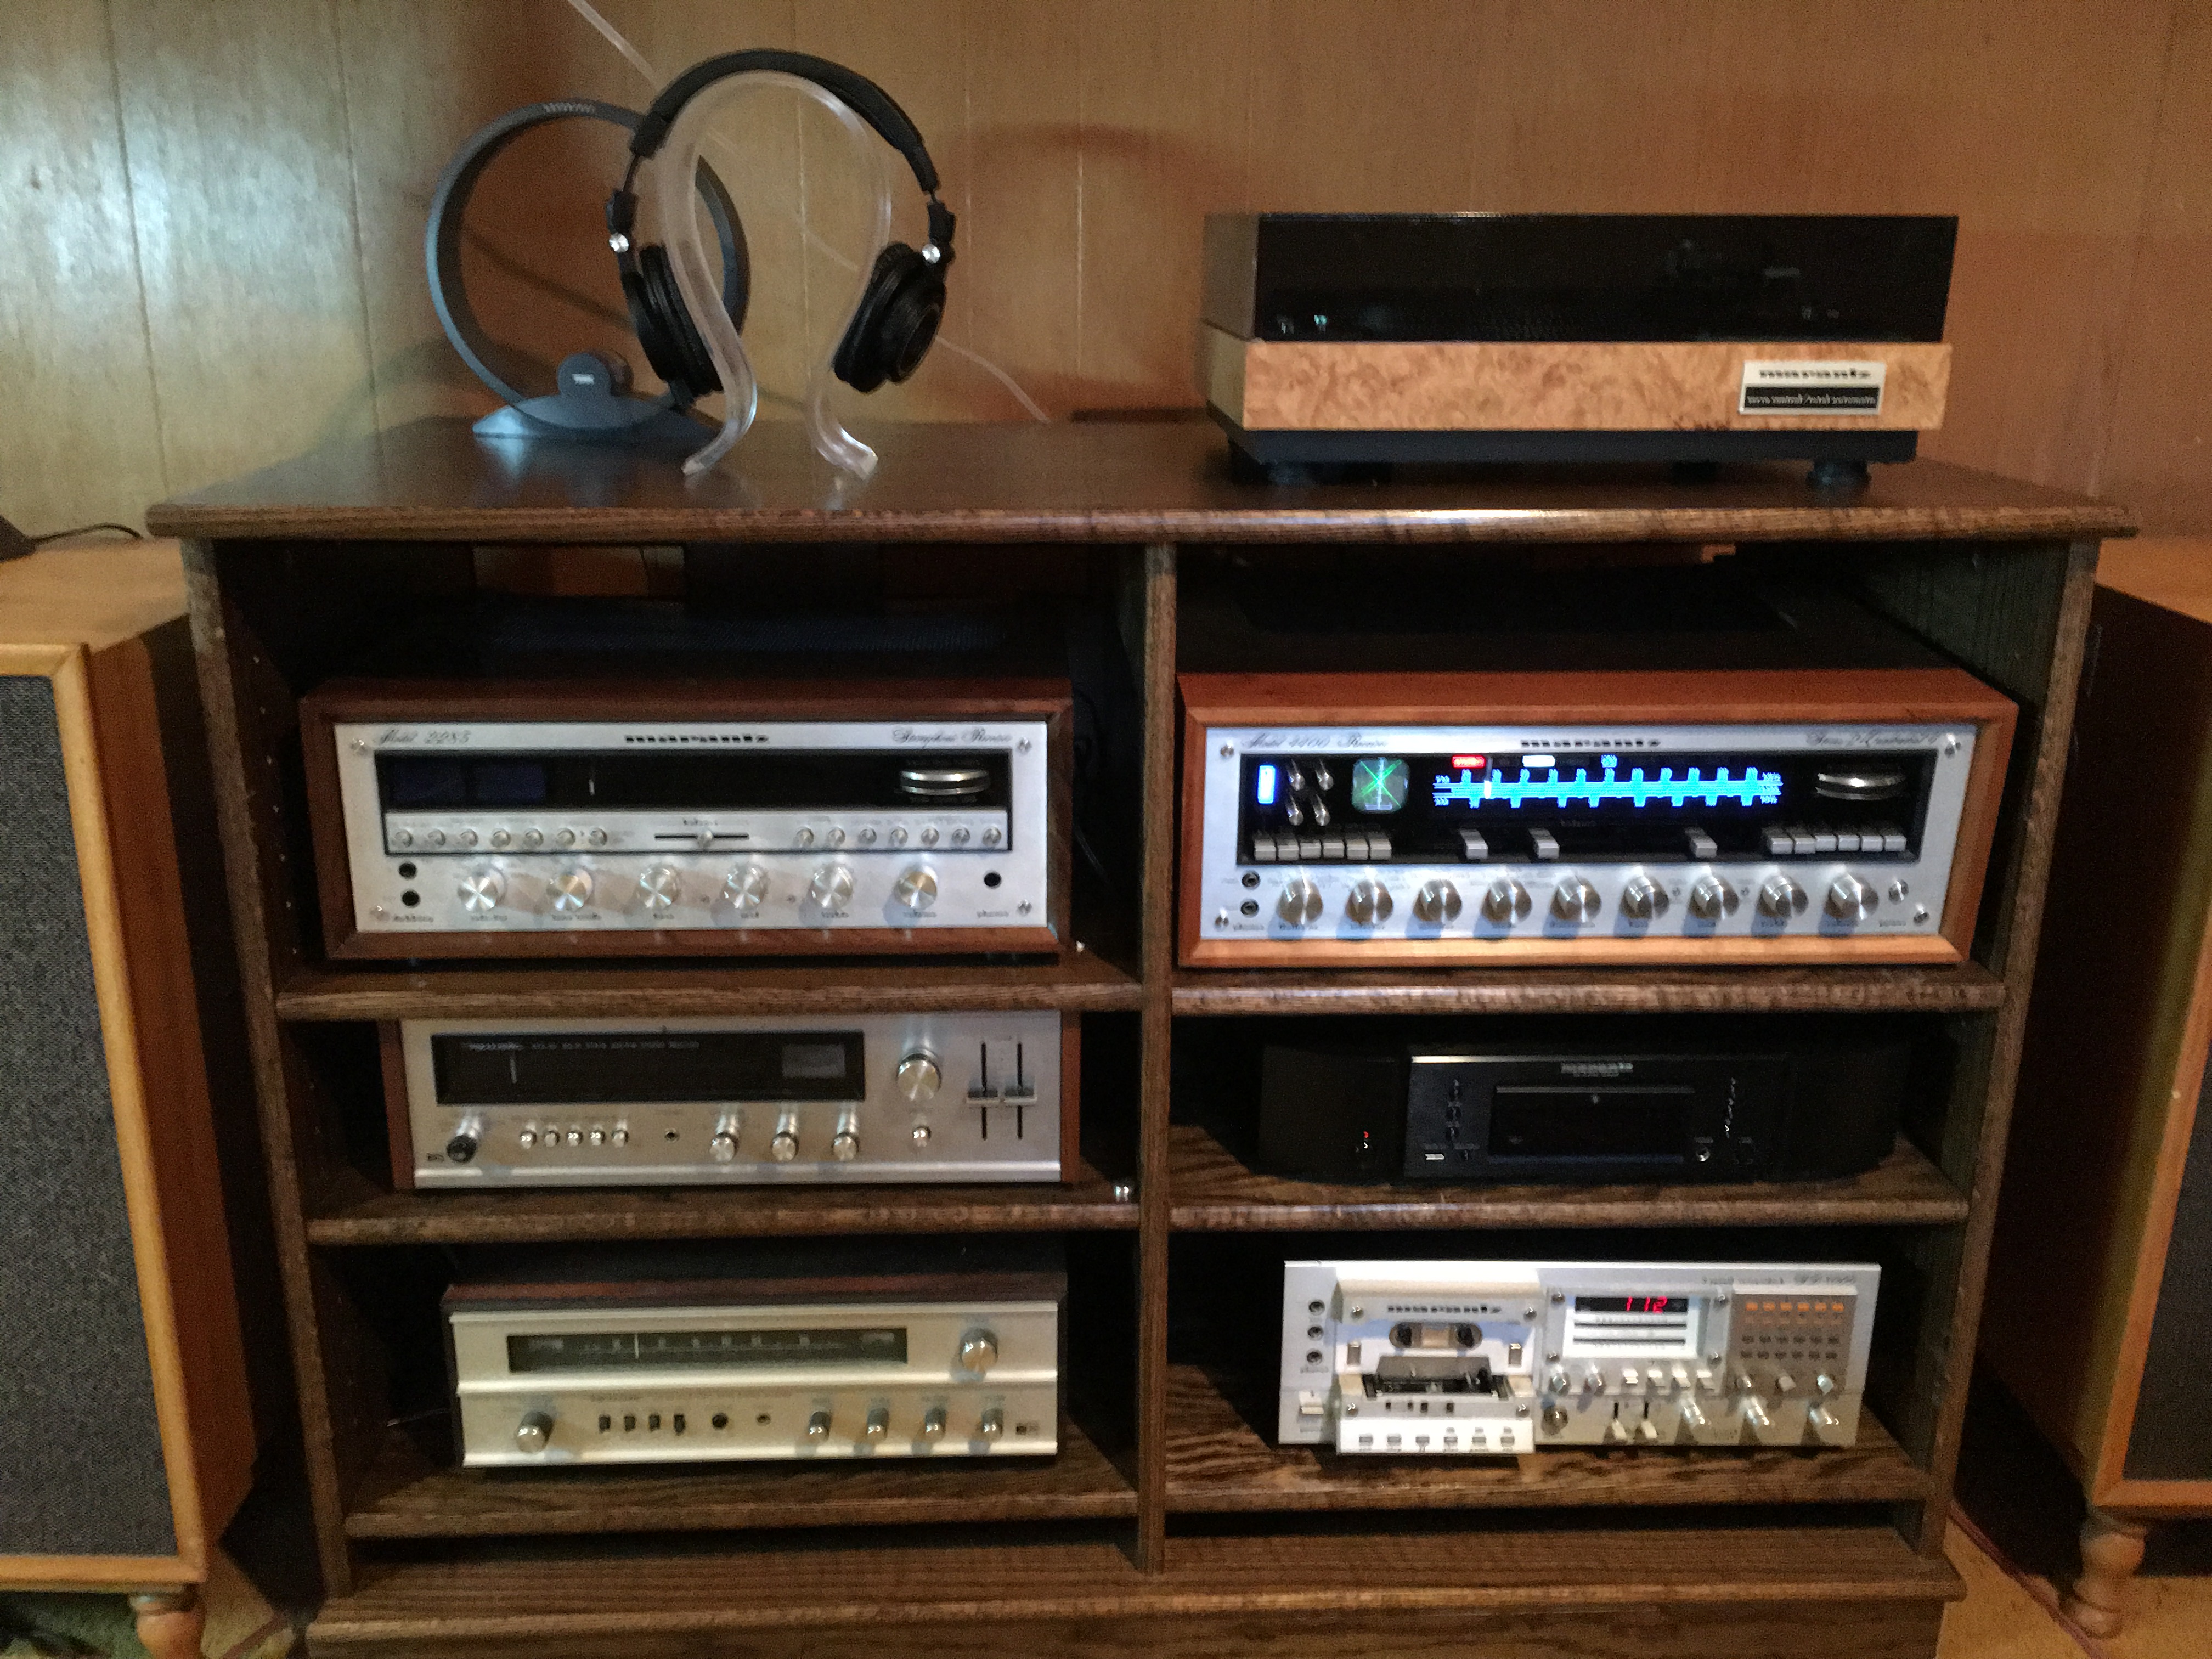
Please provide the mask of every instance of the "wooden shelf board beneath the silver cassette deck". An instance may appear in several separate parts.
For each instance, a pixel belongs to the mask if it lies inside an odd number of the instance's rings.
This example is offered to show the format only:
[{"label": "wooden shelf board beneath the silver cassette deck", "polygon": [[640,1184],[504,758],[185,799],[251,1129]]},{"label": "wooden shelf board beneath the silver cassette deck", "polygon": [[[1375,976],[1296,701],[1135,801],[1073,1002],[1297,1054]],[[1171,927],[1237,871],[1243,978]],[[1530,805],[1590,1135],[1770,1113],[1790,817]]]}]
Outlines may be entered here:
[{"label": "wooden shelf board beneath the silver cassette deck", "polygon": [[1533,1451],[1522,1458],[1338,1458],[1274,1444],[1270,1378],[1168,1367],[1168,1509],[1551,1509],[1869,1504],[1927,1495],[1871,1413],[1856,1447]]}]

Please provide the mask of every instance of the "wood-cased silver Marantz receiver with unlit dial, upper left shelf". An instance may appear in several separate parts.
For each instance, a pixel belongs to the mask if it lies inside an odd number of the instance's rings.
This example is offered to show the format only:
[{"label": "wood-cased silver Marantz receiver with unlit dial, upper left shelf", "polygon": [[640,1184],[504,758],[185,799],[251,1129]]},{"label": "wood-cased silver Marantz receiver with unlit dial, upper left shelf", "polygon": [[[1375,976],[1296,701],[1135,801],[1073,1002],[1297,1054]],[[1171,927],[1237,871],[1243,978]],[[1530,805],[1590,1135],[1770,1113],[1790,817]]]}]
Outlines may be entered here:
[{"label": "wood-cased silver Marantz receiver with unlit dial, upper left shelf", "polygon": [[332,956],[1066,940],[1064,681],[341,681],[301,699]]}]

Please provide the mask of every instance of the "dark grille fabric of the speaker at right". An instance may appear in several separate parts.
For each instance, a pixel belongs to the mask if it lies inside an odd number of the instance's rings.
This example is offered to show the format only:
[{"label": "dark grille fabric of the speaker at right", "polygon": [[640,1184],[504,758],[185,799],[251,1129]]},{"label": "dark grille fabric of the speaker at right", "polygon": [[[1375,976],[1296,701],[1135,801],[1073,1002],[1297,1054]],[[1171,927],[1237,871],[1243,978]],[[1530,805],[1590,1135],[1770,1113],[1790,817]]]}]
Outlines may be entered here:
[{"label": "dark grille fabric of the speaker at right", "polygon": [[2128,1429],[2128,1480],[2212,1480],[2212,1068],[2197,1091],[2190,1161],[2181,1170],[2174,1234],[2166,1245],[2159,1307],[2150,1316],[2143,1391]]}]

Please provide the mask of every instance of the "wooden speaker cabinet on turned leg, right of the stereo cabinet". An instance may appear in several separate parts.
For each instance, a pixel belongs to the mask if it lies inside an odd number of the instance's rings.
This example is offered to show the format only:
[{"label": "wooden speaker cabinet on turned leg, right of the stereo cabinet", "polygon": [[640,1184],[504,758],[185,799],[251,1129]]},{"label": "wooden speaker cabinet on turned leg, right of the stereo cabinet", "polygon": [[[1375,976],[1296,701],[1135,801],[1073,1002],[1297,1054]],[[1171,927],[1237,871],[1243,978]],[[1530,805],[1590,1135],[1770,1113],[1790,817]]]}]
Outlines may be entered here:
[{"label": "wooden speaker cabinet on turned leg, right of the stereo cabinet", "polygon": [[2212,1515],[2212,542],[2108,542],[1982,1352],[2090,1502],[2075,1617],[2141,1522]]}]

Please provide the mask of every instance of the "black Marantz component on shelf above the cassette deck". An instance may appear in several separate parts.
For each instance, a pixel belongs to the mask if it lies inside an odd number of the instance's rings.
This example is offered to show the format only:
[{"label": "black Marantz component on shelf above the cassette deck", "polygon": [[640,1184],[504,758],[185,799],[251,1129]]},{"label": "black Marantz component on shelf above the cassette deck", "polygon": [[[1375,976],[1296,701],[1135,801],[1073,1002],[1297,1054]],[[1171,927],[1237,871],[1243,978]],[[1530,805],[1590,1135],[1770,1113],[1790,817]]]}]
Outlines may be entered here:
[{"label": "black Marantz component on shelf above the cassette deck", "polygon": [[1321,1181],[1820,1181],[1896,1146],[1913,1044],[1851,1020],[1303,1020],[1259,1166]]}]

